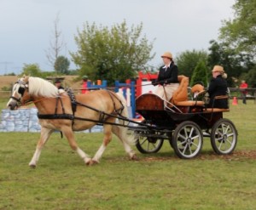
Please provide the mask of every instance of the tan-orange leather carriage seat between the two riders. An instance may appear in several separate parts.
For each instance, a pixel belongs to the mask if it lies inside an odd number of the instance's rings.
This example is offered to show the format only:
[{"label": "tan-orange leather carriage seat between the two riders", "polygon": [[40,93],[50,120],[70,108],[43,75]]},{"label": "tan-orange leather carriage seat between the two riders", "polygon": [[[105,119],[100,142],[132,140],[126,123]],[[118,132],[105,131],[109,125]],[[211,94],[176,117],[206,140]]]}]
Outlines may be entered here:
[{"label": "tan-orange leather carriage seat between the two riders", "polygon": [[[183,75],[177,76],[177,80],[179,82],[179,86],[176,91],[172,94],[171,103],[173,105],[181,105],[181,106],[195,106],[200,105],[203,106],[204,102],[199,100],[188,100],[188,86],[189,86],[189,77],[185,77]],[[203,87],[199,85],[195,85],[191,89],[192,93],[195,94],[196,92],[202,93]]]}]

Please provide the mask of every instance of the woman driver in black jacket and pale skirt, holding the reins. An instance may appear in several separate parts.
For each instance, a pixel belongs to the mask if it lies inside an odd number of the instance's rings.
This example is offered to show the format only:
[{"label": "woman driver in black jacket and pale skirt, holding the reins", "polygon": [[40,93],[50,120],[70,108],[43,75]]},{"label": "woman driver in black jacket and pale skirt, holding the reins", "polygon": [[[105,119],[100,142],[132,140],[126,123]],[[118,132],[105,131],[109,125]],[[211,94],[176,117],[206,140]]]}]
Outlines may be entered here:
[{"label": "woman driver in black jacket and pale skirt, holding the reins", "polygon": [[158,78],[152,84],[159,85],[154,94],[169,101],[179,85],[177,81],[177,65],[174,64],[170,52],[164,53],[161,58],[165,65],[160,67]]}]

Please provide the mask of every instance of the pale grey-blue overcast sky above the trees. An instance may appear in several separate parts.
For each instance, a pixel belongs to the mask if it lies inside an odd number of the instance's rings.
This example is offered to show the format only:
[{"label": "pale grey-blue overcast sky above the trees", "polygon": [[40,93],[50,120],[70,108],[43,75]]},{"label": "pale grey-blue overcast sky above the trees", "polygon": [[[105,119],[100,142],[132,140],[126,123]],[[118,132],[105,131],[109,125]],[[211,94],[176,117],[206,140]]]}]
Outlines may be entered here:
[{"label": "pale grey-blue overcast sky above the trees", "polygon": [[[218,39],[223,20],[234,17],[236,0],[0,0],[0,75],[20,73],[24,64],[37,63],[51,71],[46,58],[54,40],[54,22],[67,48],[61,54],[71,59],[76,52],[74,36],[87,21],[97,26],[113,26],[124,20],[128,26],[143,23],[143,34],[154,41],[154,59],[171,51],[175,57],[185,50],[207,50]],[[78,66],[71,61],[70,68]]]}]

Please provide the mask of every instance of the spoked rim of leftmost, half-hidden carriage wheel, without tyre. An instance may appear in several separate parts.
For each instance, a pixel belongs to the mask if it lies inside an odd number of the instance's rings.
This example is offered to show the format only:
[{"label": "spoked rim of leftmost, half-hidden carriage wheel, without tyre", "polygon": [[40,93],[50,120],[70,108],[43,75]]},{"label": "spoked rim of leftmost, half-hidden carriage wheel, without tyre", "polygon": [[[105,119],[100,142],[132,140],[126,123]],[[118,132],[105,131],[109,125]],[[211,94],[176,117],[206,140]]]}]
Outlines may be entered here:
[{"label": "spoked rim of leftmost, half-hidden carriage wheel, without tyre", "polygon": [[158,151],[161,147],[162,141],[162,139],[140,136],[138,138],[137,144],[139,144],[144,151],[150,153]]}]

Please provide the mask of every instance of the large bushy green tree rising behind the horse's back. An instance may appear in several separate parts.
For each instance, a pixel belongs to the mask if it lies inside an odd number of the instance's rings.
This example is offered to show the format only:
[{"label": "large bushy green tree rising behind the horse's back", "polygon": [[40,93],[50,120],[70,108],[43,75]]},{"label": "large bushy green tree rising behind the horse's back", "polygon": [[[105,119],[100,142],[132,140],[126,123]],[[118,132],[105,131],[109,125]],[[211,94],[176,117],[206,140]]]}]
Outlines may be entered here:
[{"label": "large bushy green tree rising behind the horse's back", "polygon": [[86,74],[92,80],[105,79],[110,84],[135,77],[154,58],[154,54],[150,55],[153,43],[141,36],[142,31],[143,24],[129,30],[125,20],[111,28],[86,22],[75,36],[79,50],[71,54],[73,62],[79,65],[80,75]]}]

